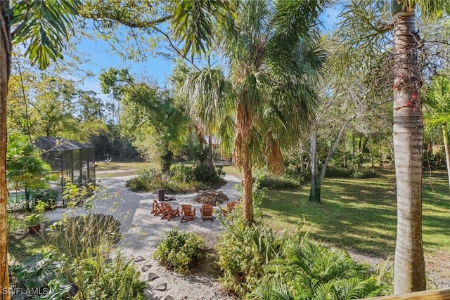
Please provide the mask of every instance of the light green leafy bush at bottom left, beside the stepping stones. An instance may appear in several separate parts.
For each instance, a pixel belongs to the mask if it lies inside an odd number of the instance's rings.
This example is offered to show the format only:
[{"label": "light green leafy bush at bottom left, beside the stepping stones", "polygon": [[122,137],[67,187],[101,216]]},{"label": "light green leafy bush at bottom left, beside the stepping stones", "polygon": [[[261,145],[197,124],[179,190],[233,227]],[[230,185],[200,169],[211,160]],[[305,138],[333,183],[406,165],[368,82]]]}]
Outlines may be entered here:
[{"label": "light green leafy bush at bottom left, beside the stepping stones", "polygon": [[139,280],[141,273],[136,269],[136,265],[131,259],[124,259],[122,254],[117,254],[104,268],[94,261],[86,262],[84,266],[87,274],[83,285],[84,296],[77,294],[73,299],[146,299],[144,290],[148,284]]}]

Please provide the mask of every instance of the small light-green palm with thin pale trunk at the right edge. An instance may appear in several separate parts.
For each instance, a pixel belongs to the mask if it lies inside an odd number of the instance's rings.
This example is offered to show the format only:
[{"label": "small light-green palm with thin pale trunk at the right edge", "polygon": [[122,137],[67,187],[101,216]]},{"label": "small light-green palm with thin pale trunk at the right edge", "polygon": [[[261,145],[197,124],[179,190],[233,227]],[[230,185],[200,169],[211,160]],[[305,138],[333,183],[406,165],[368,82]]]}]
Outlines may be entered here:
[{"label": "small light-green palm with thin pale trunk at the right edge", "polygon": [[435,77],[432,84],[425,89],[424,103],[430,107],[430,113],[425,116],[425,124],[430,127],[442,126],[447,176],[449,176],[450,185],[450,149],[447,131],[450,122],[450,79],[444,76]]}]

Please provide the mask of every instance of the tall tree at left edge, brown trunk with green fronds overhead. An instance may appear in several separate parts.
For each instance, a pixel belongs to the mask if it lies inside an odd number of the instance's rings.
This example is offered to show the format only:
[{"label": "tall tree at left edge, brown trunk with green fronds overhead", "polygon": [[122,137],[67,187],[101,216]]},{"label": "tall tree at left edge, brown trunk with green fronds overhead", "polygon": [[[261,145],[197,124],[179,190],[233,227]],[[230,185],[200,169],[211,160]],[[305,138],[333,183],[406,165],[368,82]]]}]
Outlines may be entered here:
[{"label": "tall tree at left edge, brown trunk with green fronds overhead", "polygon": [[[25,43],[25,54],[41,69],[62,57],[78,0],[0,1],[0,289],[8,290],[8,228],[6,227],[6,103],[13,42]],[[13,30],[11,30],[11,28]],[[1,293],[0,299],[11,299]]]}]

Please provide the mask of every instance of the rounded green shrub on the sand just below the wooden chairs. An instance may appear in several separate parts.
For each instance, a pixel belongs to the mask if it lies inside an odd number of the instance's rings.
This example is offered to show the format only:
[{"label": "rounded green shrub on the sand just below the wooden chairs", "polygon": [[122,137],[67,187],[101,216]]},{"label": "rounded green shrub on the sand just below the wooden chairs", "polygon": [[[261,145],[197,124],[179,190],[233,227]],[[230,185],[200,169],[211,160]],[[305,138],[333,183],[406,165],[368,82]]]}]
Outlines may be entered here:
[{"label": "rounded green shrub on the sand just below the wooden chairs", "polygon": [[174,229],[161,240],[153,256],[169,269],[178,273],[188,273],[195,260],[202,256],[204,242],[205,240],[195,233]]}]

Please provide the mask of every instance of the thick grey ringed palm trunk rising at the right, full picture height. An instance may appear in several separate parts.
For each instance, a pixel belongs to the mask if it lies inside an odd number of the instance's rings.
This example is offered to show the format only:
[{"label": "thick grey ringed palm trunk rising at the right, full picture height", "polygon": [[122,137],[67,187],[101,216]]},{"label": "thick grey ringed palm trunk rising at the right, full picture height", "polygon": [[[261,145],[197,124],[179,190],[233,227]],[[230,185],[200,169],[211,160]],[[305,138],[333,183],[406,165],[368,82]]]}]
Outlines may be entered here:
[{"label": "thick grey ringed palm trunk rising at the right, full picture height", "polygon": [[[395,5],[392,1],[392,5]],[[426,288],[422,245],[423,120],[413,7],[394,7],[394,162],[397,182],[397,242],[394,294]]]}]

